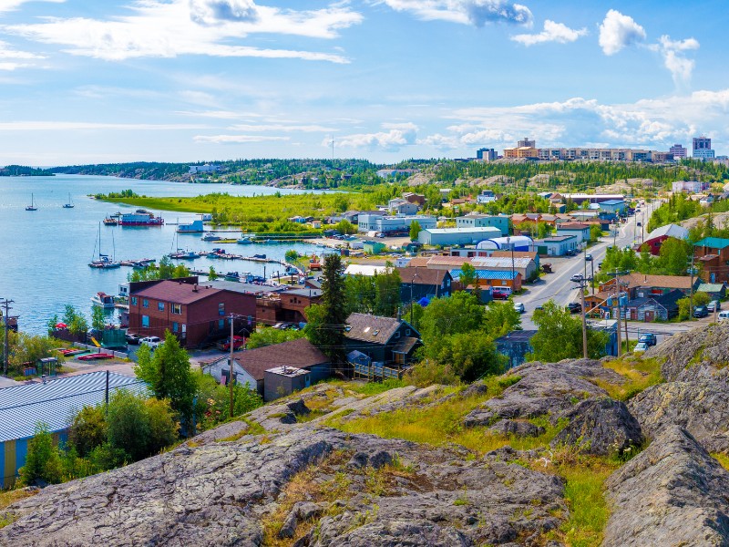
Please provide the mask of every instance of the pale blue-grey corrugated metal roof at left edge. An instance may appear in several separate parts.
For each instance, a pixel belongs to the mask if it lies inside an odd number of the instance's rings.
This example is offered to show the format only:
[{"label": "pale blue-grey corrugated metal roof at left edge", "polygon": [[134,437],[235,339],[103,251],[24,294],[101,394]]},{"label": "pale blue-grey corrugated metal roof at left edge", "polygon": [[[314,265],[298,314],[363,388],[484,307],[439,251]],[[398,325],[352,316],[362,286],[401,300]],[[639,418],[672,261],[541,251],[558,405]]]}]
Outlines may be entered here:
[{"label": "pale blue-grey corrugated metal roof at left edge", "polygon": [[[0,389],[0,442],[32,437],[39,422],[52,432],[67,428],[81,408],[104,401],[106,382],[107,372],[99,370],[45,384]],[[109,373],[108,386],[109,391],[123,387],[135,393],[147,392],[141,380],[116,372]]]}]

